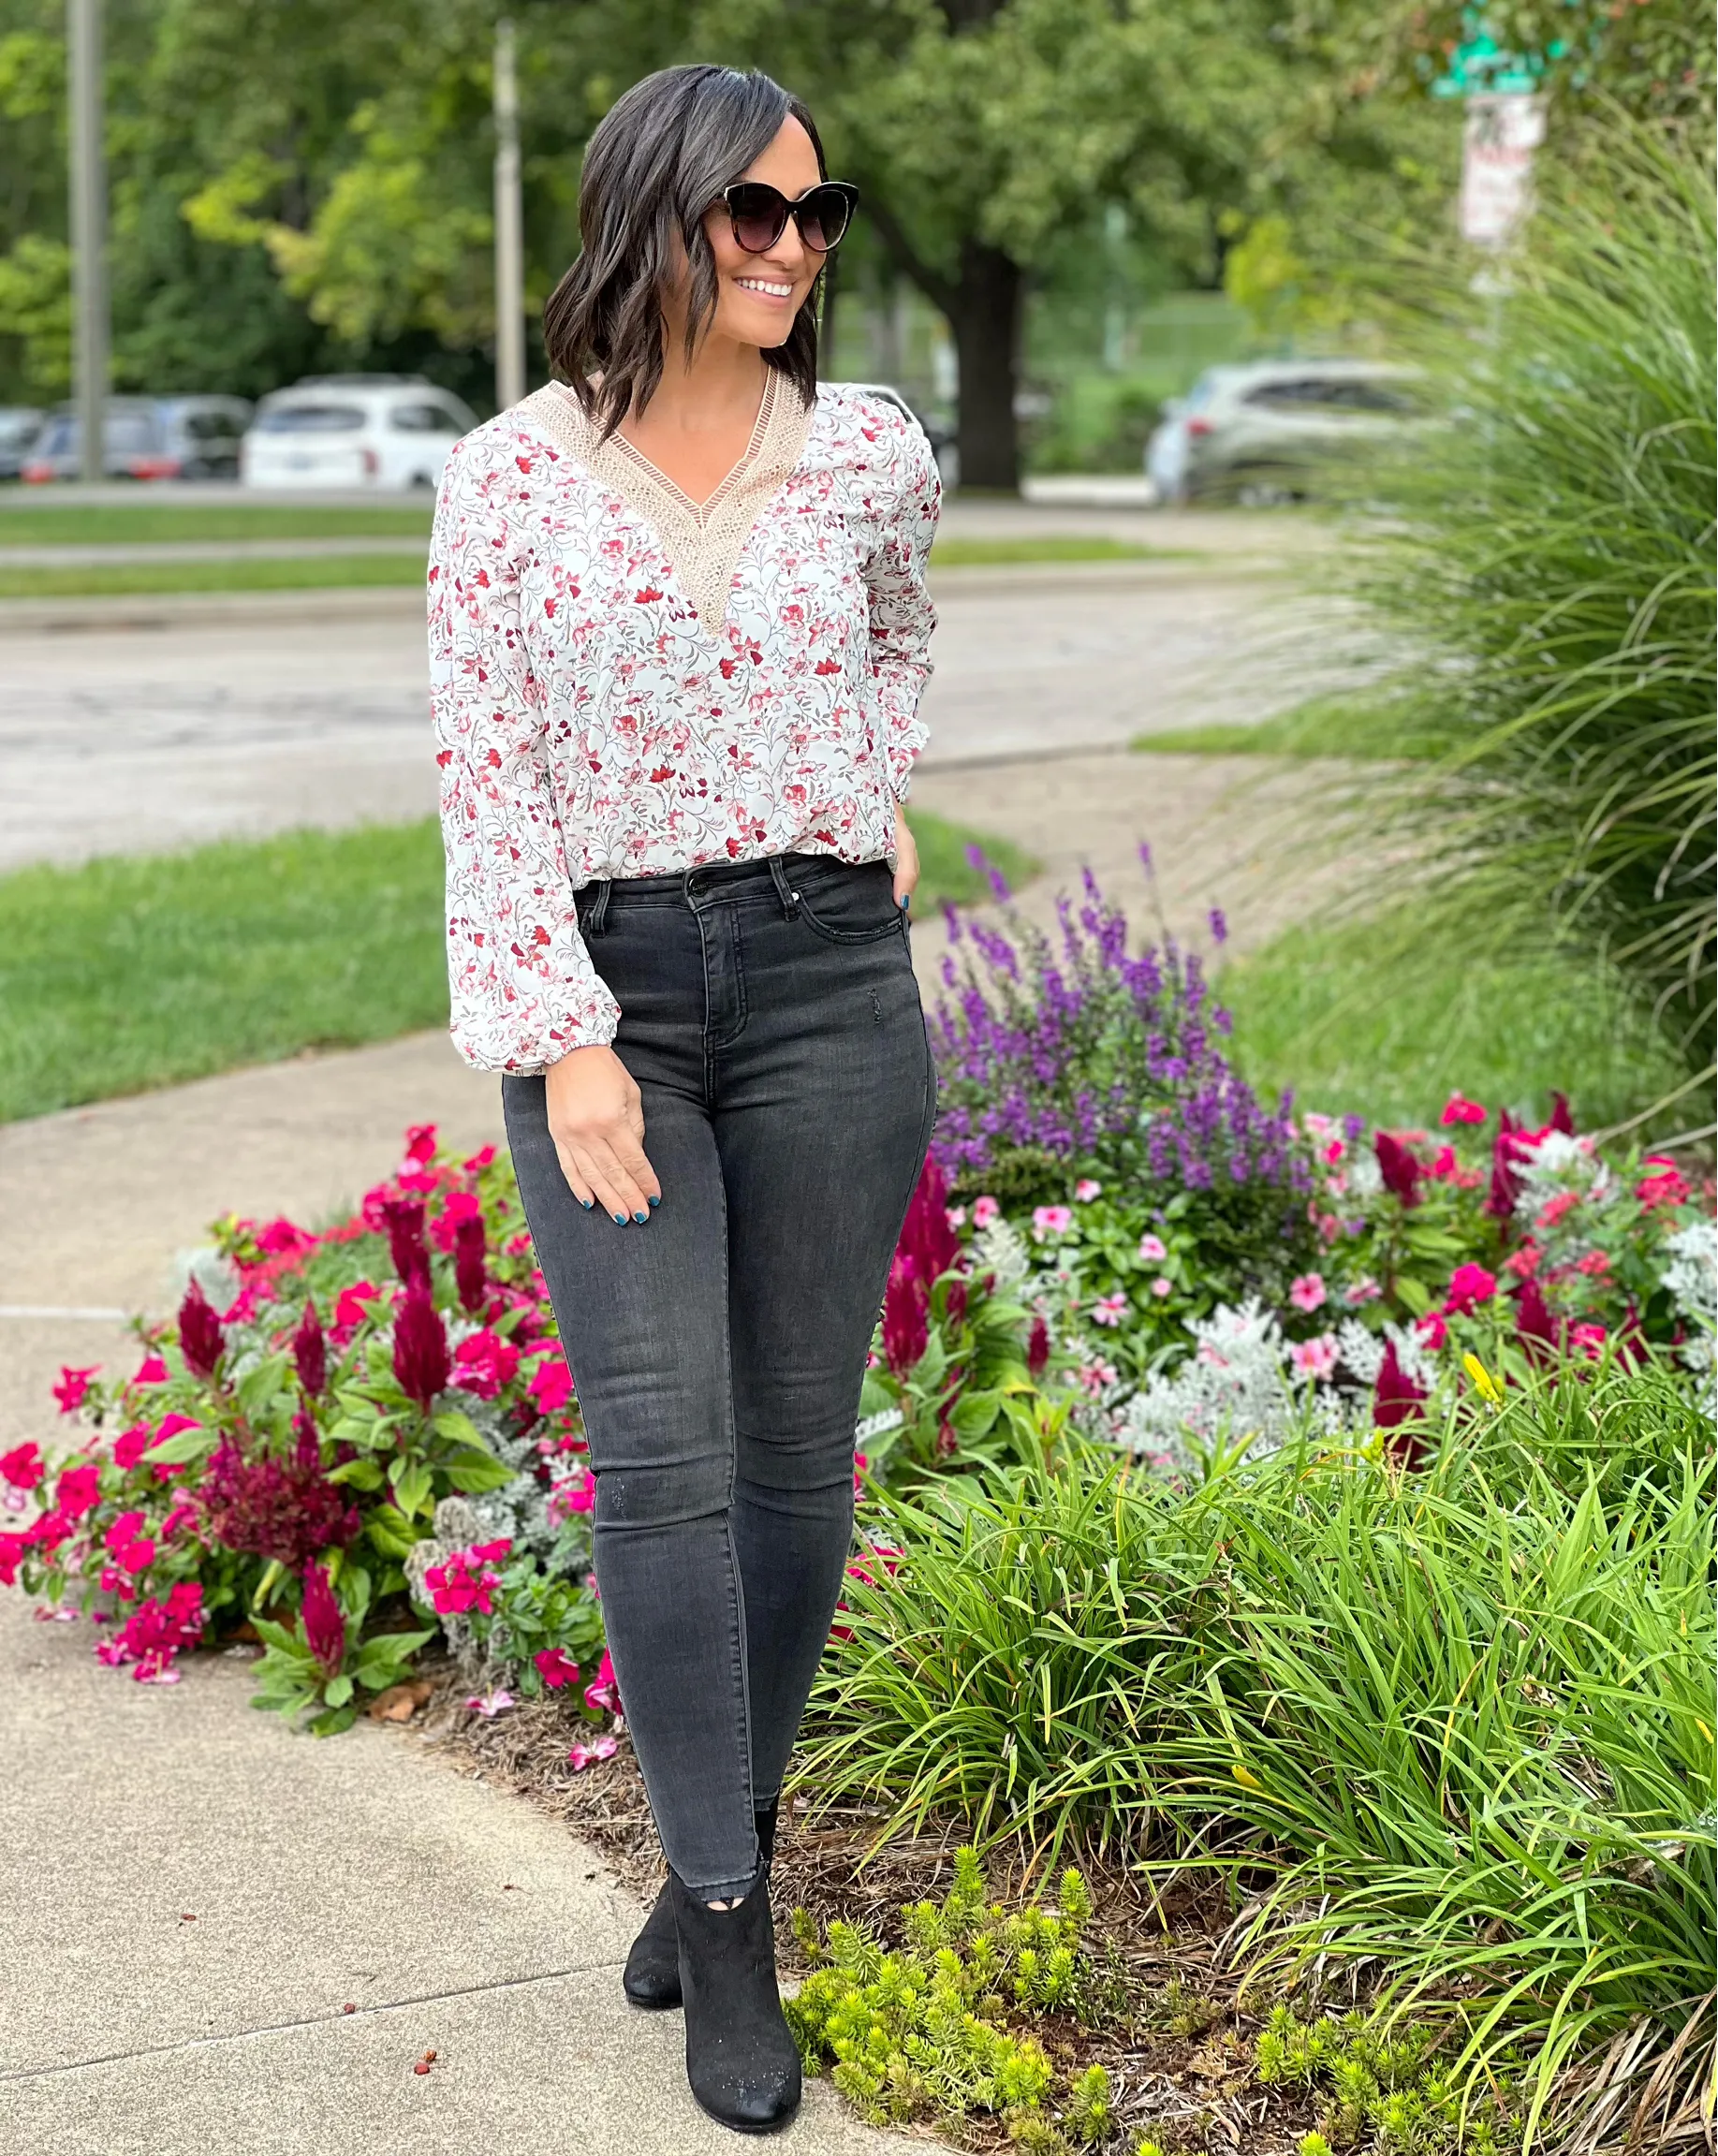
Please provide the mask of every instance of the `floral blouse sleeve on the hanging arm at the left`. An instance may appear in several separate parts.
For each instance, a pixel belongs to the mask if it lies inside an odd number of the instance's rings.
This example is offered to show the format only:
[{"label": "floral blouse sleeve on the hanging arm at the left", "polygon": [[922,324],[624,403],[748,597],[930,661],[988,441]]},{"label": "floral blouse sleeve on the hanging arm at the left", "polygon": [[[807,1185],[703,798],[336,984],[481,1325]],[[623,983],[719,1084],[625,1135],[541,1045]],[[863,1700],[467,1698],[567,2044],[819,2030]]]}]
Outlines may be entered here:
[{"label": "floral blouse sleeve on the hanging arm at the left", "polygon": [[429,694],[442,770],[453,1041],[537,1074],[614,1037],[619,1005],[578,929],[519,619],[530,487],[476,438],[448,457],[429,552]]}]

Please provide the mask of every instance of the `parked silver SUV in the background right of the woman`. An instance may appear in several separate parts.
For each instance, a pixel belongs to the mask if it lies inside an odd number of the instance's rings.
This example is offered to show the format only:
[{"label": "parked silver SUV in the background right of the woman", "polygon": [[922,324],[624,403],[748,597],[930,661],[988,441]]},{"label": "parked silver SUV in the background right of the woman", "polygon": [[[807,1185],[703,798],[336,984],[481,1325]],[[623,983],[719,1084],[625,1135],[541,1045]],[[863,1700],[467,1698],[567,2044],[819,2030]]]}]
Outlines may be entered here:
[{"label": "parked silver SUV in the background right of the woman", "polygon": [[1421,420],[1418,379],[1386,360],[1211,367],[1164,405],[1145,470],[1164,502],[1293,500],[1321,466]]}]

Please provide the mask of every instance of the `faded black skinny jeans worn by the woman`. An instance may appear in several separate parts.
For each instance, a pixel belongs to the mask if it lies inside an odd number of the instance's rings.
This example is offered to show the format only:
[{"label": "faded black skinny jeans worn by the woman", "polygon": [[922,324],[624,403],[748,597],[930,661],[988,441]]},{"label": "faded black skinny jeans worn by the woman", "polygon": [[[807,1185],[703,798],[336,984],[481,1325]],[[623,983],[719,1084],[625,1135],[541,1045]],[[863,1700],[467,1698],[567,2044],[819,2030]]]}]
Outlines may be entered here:
[{"label": "faded black skinny jeans worn by the woman", "polygon": [[588,884],[662,1181],[586,1212],[541,1078],[507,1134],[597,1477],[595,1563],[668,1863],[759,1867],[854,1531],[854,1421],[936,1076],[886,862],[821,854]]}]

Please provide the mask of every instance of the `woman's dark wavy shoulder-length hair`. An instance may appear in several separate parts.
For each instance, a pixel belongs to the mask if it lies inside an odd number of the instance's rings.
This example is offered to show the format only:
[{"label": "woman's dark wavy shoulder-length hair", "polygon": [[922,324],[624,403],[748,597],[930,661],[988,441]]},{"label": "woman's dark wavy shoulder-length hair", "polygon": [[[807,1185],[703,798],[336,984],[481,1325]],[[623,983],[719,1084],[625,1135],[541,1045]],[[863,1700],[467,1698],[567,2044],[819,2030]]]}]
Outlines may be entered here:
[{"label": "woman's dark wavy shoulder-length hair", "polygon": [[[705,211],[795,119],[817,151],[810,112],[770,75],[735,67],[664,67],[621,97],[584,151],[578,229],[582,252],[543,308],[543,343],[604,440],[662,382],[662,289],[675,274],[673,235],[692,265],[685,356],[716,313],[716,257]],[[819,272],[821,282],[821,272]],[[763,360],[817,397],[817,285],[787,341]],[[601,371],[601,384],[591,373]]]}]

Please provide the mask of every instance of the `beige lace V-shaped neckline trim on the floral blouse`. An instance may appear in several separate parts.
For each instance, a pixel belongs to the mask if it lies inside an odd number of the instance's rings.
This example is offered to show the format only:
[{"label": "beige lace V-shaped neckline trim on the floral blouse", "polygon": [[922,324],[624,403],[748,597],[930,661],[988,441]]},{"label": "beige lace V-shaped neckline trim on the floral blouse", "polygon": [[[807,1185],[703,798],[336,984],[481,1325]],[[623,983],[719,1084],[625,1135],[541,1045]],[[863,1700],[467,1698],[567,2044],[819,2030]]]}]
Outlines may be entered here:
[{"label": "beige lace V-shaped neckline trim on the floral blouse", "polygon": [[675,576],[698,608],[698,619],[711,636],[718,636],[729,612],[739,550],[763,505],[800,461],[810,433],[810,407],[795,397],[793,386],[770,369],[746,453],[703,505],[683,494],[623,436],[612,433],[604,442],[565,384],[550,382],[548,388],[526,397],[522,410],[610,492],[649,517],[675,565]]}]

